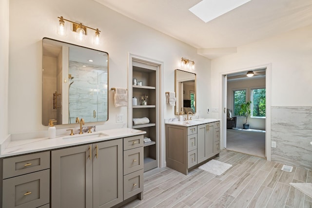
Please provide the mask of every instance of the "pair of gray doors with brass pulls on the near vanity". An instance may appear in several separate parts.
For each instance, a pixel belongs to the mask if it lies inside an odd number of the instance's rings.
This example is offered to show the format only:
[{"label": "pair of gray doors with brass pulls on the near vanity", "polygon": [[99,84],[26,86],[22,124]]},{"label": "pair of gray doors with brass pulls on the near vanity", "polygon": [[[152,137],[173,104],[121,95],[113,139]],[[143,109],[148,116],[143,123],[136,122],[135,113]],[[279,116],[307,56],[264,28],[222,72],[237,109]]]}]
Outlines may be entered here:
[{"label": "pair of gray doors with brass pulls on the near vanity", "polygon": [[117,205],[122,177],[122,139],[51,151],[51,207]]}]

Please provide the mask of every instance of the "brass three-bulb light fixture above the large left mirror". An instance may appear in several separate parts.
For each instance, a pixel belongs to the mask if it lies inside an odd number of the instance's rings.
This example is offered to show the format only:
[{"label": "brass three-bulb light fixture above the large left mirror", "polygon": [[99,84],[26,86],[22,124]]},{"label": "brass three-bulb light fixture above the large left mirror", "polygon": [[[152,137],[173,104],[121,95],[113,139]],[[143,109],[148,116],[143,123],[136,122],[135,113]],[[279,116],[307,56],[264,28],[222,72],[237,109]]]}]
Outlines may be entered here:
[{"label": "brass three-bulb light fixture above the large left mirror", "polygon": [[59,18],[59,25],[58,25],[58,34],[61,36],[66,36],[66,24],[65,21],[71,22],[73,24],[73,31],[77,33],[77,39],[82,40],[86,35],[87,35],[87,28],[96,31],[94,35],[94,43],[99,44],[100,43],[100,38],[99,38],[99,33],[101,31],[97,29],[94,29],[92,27],[88,27],[86,25],[83,25],[82,23],[77,23],[73,22],[68,19],[64,19],[62,16],[58,17]]}]

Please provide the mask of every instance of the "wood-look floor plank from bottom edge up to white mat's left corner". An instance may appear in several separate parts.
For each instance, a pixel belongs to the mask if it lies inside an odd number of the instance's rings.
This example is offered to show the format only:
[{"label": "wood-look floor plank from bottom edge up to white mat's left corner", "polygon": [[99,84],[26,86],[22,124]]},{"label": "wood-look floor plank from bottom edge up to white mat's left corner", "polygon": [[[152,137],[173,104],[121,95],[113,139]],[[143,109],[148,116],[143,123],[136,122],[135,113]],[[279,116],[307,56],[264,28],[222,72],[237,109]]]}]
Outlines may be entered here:
[{"label": "wood-look floor plank from bottom edge up to white mat's left corner", "polygon": [[284,208],[289,189],[290,185],[277,183],[267,204],[267,208]]}]

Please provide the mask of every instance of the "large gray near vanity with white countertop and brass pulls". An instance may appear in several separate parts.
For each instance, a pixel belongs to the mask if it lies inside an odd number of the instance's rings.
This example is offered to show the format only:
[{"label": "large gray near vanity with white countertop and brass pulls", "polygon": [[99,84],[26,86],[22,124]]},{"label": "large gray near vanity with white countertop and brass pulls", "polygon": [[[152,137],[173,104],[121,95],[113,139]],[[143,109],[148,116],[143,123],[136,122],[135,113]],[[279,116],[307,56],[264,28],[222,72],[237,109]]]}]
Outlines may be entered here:
[{"label": "large gray near vanity with white countertop and brass pulls", "polygon": [[0,207],[110,208],[143,198],[143,134],[117,129],[12,141],[0,155]]}]

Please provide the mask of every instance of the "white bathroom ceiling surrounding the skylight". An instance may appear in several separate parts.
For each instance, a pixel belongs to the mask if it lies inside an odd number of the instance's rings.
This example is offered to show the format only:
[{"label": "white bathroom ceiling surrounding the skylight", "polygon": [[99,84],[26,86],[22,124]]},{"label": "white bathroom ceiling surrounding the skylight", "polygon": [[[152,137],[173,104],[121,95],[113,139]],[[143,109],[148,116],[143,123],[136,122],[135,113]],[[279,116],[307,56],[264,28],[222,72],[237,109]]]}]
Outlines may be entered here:
[{"label": "white bathroom ceiling surrounding the skylight", "polygon": [[95,0],[195,48],[204,57],[312,25],[312,0],[251,0],[207,23],[189,8],[201,0]]}]

